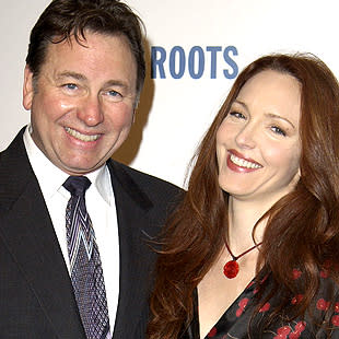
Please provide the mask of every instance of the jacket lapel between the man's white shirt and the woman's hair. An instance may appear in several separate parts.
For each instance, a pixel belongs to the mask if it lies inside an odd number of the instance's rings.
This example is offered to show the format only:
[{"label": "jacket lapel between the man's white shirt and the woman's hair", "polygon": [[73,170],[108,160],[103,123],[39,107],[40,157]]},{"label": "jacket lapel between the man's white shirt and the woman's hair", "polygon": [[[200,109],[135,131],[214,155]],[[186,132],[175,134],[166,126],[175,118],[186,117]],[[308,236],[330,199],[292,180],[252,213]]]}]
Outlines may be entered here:
[{"label": "jacket lapel between the man's white shirt and the woman's hair", "polygon": [[[109,162],[114,186],[120,249],[119,303],[114,339],[136,338],[137,327],[144,332],[148,311],[148,288],[154,255],[147,245],[152,202],[132,178],[119,166]],[[141,338],[142,335],[140,335]]]}]

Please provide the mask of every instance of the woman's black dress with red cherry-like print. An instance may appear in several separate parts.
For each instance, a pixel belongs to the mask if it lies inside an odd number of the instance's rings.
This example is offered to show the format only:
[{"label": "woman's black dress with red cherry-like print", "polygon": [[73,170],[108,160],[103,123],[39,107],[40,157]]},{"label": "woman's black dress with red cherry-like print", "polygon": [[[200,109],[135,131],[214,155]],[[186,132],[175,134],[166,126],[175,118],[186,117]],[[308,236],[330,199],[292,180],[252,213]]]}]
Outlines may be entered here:
[{"label": "woman's black dress with red cherry-like print", "polygon": [[[293,270],[293,279],[297,280],[301,276],[299,270]],[[266,280],[266,281],[265,281]],[[272,283],[270,276],[266,276],[261,282],[268,287]],[[261,283],[260,282],[260,283]],[[330,289],[329,289],[330,288]],[[288,316],[279,315],[273,323],[267,328],[261,328],[262,320],[267,319],[272,306],[279,302],[279,295],[274,295],[269,300],[257,313],[253,316],[257,305],[255,295],[258,292],[258,284],[253,281],[244,292],[235,300],[235,302],[225,311],[218,323],[212,327],[204,339],[339,339],[339,296],[338,291],[334,291],[334,284],[328,278],[326,271],[320,271],[320,288],[317,297],[312,303],[313,322],[309,317],[296,318],[292,322],[288,320]],[[329,290],[331,293],[329,293]],[[330,307],[329,294],[337,295],[338,302]],[[303,299],[302,294],[291,297],[293,307]],[[332,297],[331,297],[332,299]],[[331,309],[330,312],[327,312]],[[314,319],[317,324],[322,324],[328,317],[330,329],[325,331],[322,326],[314,325]],[[250,329],[249,329],[250,328]],[[250,335],[249,335],[250,334]],[[260,335],[259,335],[260,334]],[[189,327],[183,332],[180,339],[199,339],[199,320],[197,311],[197,293],[195,295],[195,315]]]}]

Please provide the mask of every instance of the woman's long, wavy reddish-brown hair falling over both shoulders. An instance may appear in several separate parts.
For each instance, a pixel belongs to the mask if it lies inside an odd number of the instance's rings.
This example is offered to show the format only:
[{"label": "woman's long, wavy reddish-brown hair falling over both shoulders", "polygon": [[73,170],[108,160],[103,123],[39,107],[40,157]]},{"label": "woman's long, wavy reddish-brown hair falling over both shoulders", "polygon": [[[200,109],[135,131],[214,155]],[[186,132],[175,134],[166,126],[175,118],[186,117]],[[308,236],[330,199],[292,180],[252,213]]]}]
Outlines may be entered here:
[{"label": "woman's long, wavy reddish-brown hair falling over both shoulders", "polygon": [[[218,183],[215,135],[243,85],[264,70],[288,73],[301,84],[301,179],[266,213],[257,266],[279,281],[268,295],[279,289],[285,296],[274,312],[279,313],[293,293],[302,293],[295,316],[302,315],[318,291],[319,269],[326,262],[339,264],[338,82],[312,55],[262,57],[236,79],[197,151],[187,194],[164,229],[150,301],[149,339],[176,339],[189,324],[194,291],[224,246],[227,194]],[[299,287],[291,282],[293,268],[304,272]],[[338,281],[336,270],[332,278]]]}]

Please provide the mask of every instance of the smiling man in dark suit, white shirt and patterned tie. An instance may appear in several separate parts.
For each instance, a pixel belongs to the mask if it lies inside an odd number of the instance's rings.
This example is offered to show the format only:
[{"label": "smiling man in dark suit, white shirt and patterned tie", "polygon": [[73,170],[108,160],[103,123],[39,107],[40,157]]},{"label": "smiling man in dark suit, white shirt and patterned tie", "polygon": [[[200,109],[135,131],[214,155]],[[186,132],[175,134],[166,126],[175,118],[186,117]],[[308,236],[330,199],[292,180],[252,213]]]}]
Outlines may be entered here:
[{"label": "smiling man in dark suit, white shirt and patterned tie", "polygon": [[150,239],[179,189],[110,160],[135,119],[141,37],[115,0],[54,0],[31,33],[31,124],[0,155],[0,338],[144,337]]}]

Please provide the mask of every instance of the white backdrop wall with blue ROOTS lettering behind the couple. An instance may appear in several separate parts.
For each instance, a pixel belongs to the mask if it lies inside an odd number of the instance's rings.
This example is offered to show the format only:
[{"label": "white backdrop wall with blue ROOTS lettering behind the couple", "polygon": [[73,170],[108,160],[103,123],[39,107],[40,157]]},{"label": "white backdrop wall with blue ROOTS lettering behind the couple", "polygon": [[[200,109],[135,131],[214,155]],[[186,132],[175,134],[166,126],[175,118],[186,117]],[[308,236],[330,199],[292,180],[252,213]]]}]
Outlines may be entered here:
[{"label": "white backdrop wall with blue ROOTS lettering behind the couple", "polygon": [[[0,149],[30,114],[22,79],[30,30],[49,0],[0,0]],[[179,186],[237,71],[273,51],[309,51],[339,75],[337,0],[127,0],[155,66],[130,138],[114,157]]]}]

